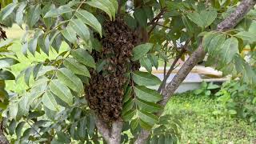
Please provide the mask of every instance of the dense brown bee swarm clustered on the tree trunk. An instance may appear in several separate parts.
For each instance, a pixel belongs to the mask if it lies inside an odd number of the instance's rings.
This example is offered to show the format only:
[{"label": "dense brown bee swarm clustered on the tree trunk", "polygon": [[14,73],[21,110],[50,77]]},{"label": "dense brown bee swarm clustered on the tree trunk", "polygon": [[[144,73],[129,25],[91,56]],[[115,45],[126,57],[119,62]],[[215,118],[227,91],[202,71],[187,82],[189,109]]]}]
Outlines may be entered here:
[{"label": "dense brown bee swarm clustered on the tree trunk", "polygon": [[114,22],[106,20],[102,27],[102,51],[93,51],[95,62],[105,63],[102,70],[90,70],[90,86],[86,86],[86,100],[90,109],[105,122],[113,122],[121,117],[124,86],[128,81],[127,72],[138,70],[138,62],[131,62],[132,50],[139,44],[134,30],[119,16]]}]

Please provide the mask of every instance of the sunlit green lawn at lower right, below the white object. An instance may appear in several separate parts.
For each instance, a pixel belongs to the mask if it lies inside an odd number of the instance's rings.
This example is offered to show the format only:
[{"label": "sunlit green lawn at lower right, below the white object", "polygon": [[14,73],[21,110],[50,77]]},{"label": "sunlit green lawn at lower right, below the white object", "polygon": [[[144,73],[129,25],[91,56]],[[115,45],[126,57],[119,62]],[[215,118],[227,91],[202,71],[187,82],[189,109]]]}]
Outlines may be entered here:
[{"label": "sunlit green lawn at lower right, below the white object", "polygon": [[186,93],[174,96],[165,112],[182,118],[181,143],[256,143],[253,123],[229,116],[216,117],[214,110],[216,99]]}]

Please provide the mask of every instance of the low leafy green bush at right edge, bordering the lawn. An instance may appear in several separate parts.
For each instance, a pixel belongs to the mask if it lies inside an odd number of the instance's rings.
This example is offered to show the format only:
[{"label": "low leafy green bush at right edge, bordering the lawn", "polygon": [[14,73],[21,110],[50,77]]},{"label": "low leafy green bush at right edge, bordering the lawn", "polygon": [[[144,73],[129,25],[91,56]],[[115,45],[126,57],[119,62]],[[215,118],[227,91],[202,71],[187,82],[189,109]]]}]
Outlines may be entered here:
[{"label": "low leafy green bush at right edge, bordering the lawn", "polygon": [[218,96],[218,110],[214,114],[228,114],[236,118],[245,118],[249,122],[255,122],[256,91],[254,86],[238,81],[226,82]]}]

